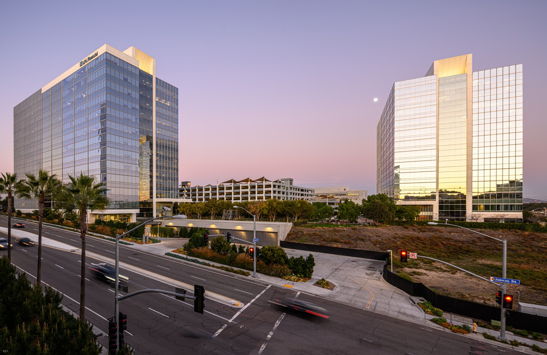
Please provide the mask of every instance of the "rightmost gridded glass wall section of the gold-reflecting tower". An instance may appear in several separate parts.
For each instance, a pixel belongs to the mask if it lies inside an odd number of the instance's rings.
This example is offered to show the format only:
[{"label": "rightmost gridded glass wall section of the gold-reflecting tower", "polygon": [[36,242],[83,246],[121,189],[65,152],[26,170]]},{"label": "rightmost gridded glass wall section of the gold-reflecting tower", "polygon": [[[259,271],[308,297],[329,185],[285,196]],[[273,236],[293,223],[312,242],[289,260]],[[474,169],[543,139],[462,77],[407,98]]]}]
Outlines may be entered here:
[{"label": "rightmost gridded glass wall section of the gold-reflecting tower", "polygon": [[473,213],[520,211],[522,64],[473,72]]}]

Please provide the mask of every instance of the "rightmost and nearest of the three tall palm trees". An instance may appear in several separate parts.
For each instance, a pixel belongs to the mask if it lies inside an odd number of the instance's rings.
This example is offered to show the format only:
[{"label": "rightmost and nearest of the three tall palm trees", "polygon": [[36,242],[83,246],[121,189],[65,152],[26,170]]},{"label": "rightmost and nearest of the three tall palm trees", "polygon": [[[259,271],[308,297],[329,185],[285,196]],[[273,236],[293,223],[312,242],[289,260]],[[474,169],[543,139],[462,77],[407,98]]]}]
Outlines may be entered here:
[{"label": "rightmost and nearest of the three tall palm trees", "polygon": [[56,206],[65,211],[78,210],[80,214],[80,238],[82,239],[82,269],[80,271],[80,319],[85,319],[85,233],[88,230],[88,211],[104,211],[110,205],[106,196],[106,184],[95,183],[95,177],[80,173],[68,176],[71,184],[63,186],[55,195]]}]

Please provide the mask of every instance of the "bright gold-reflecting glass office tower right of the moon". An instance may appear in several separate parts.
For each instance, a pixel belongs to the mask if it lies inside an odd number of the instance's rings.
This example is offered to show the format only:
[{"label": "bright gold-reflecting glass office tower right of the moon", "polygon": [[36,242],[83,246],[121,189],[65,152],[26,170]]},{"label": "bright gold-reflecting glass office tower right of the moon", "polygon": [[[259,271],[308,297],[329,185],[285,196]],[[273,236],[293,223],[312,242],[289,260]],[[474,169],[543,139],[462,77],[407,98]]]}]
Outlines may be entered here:
[{"label": "bright gold-reflecting glass office tower right of the moon", "polygon": [[522,221],[522,65],[472,55],[395,82],[377,126],[377,192],[420,219]]}]

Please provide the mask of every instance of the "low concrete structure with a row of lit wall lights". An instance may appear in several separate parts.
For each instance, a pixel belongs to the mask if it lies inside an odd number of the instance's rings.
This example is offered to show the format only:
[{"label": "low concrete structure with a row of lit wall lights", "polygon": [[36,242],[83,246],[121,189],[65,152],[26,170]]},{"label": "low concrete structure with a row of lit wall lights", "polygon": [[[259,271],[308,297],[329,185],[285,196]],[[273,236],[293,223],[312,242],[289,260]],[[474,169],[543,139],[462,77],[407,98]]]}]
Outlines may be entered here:
[{"label": "low concrete structure with a row of lit wall lights", "polygon": [[[162,226],[181,228],[206,228],[209,234],[226,234],[253,243],[253,221],[248,220],[220,220],[220,219],[166,219],[161,221]],[[285,240],[292,228],[292,223],[284,222],[257,222],[257,245],[279,245]],[[236,241],[234,241],[236,242]]]}]

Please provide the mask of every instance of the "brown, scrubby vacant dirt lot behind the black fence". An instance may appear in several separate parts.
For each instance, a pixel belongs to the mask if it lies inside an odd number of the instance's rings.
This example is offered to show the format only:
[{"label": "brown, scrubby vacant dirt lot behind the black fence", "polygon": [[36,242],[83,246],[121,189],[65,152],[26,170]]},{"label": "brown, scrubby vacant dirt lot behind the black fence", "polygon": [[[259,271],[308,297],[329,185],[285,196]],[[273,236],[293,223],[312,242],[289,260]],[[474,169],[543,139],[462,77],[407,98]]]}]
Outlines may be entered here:
[{"label": "brown, scrubby vacant dirt lot behind the black fence", "polygon": [[[547,305],[547,234],[520,230],[477,230],[508,243],[508,293],[520,301]],[[400,249],[447,261],[483,277],[501,277],[501,243],[461,228],[437,226],[296,226],[287,241],[356,248],[371,251],[392,249],[393,271],[404,272],[440,294],[495,304],[496,286],[450,266],[427,259],[399,262]]]}]

